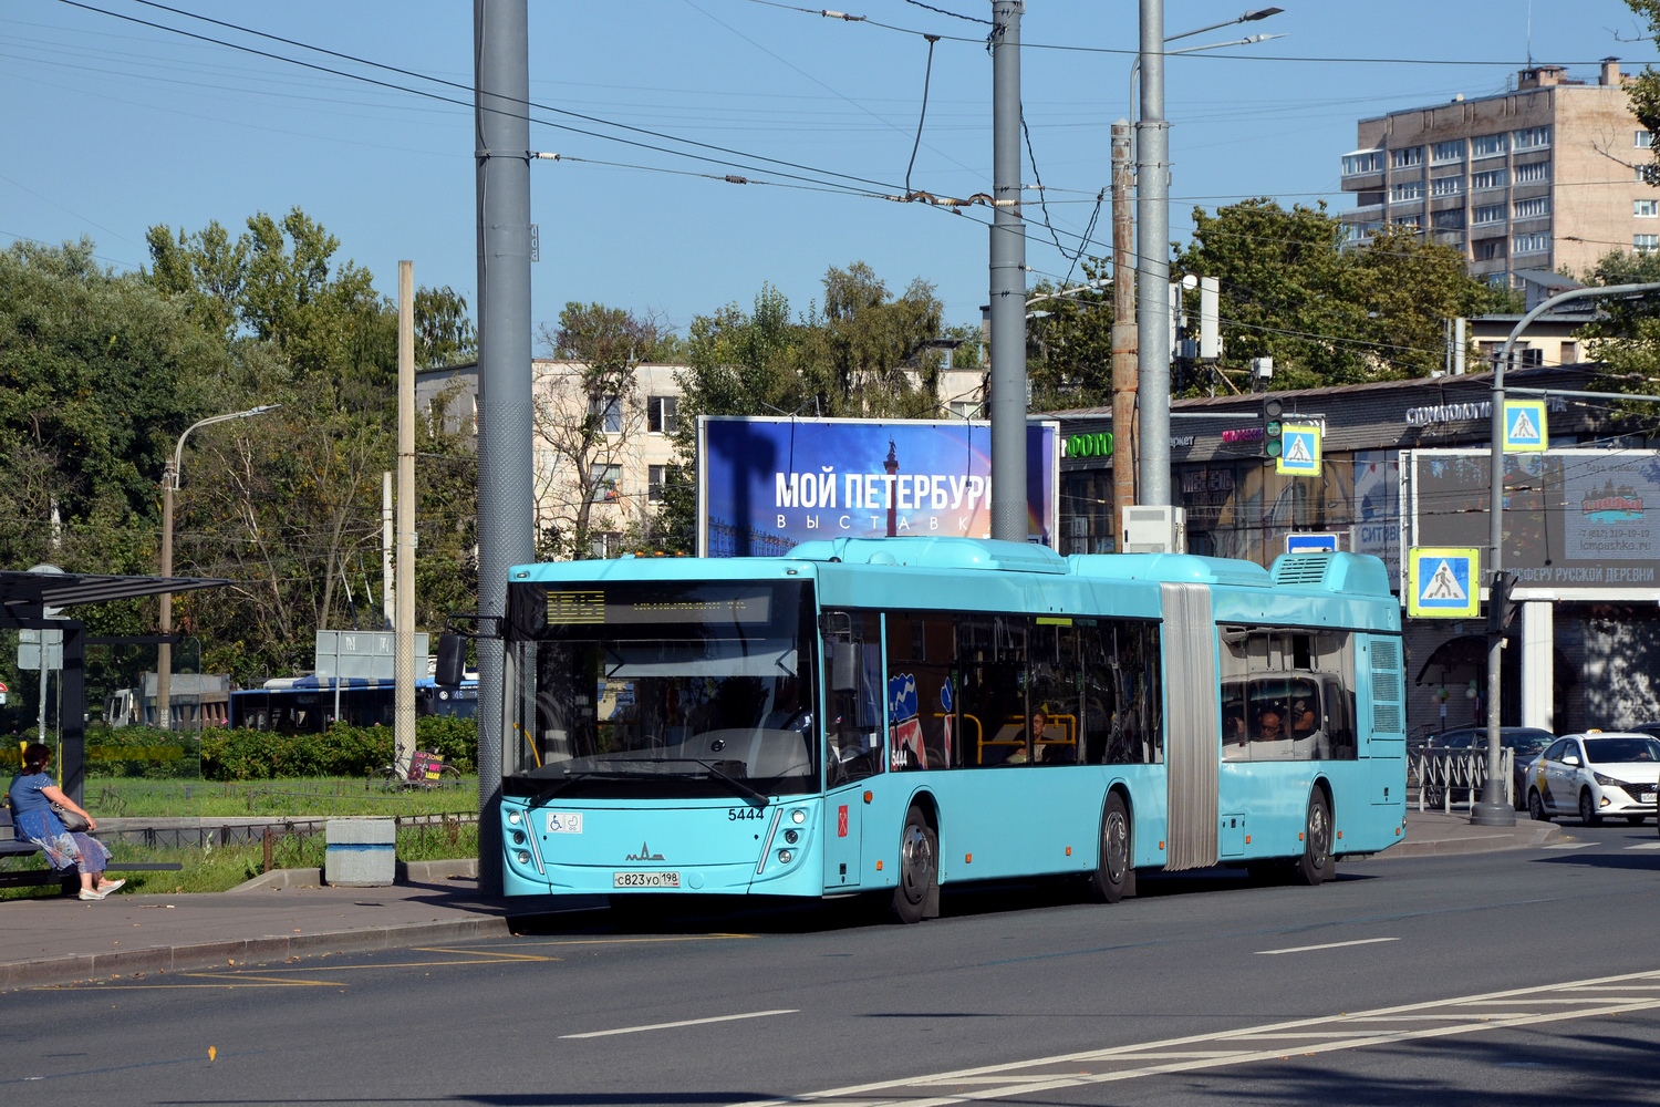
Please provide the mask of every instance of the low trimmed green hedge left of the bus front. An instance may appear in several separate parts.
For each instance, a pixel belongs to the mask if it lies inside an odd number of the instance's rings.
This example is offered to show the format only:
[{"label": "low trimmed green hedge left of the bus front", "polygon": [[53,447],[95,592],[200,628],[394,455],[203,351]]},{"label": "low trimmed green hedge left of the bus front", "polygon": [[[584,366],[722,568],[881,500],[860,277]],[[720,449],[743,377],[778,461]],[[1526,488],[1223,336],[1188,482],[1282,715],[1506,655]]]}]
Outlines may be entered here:
[{"label": "low trimmed green hedge left of the bus front", "polygon": [[[478,762],[478,725],[471,719],[425,715],[415,722],[415,745],[470,773]],[[337,722],[325,734],[237,729],[204,737],[201,765],[206,780],[362,777],[390,765],[392,752],[392,727]]]}]

